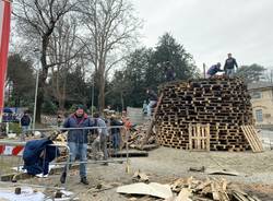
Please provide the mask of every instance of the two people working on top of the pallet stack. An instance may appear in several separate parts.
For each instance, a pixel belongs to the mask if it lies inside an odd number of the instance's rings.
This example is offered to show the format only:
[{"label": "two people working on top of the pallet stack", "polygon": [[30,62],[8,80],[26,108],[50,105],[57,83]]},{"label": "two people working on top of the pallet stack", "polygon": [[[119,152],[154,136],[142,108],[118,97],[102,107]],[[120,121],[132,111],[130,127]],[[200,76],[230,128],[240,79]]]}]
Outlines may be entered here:
[{"label": "two people working on top of the pallet stack", "polygon": [[221,63],[217,62],[216,64],[213,64],[207,71],[206,76],[212,78],[217,72],[225,72],[225,74],[228,78],[234,78],[235,74],[235,68],[238,69],[238,64],[235,58],[233,58],[232,54],[227,54],[227,59],[225,61],[224,69],[221,69]]}]

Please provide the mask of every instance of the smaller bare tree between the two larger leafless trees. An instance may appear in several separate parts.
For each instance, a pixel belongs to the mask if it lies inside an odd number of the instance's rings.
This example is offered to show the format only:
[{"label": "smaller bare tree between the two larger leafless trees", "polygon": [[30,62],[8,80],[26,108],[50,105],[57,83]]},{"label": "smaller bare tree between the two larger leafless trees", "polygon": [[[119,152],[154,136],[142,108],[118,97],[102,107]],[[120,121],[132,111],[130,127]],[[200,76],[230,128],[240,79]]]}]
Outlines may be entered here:
[{"label": "smaller bare tree between the two larger leafless trees", "polygon": [[63,110],[67,98],[67,73],[82,63],[85,45],[78,36],[79,22],[75,17],[61,19],[57,23],[56,31],[49,43],[49,60],[57,63],[52,68],[52,95],[59,103],[59,109]]}]

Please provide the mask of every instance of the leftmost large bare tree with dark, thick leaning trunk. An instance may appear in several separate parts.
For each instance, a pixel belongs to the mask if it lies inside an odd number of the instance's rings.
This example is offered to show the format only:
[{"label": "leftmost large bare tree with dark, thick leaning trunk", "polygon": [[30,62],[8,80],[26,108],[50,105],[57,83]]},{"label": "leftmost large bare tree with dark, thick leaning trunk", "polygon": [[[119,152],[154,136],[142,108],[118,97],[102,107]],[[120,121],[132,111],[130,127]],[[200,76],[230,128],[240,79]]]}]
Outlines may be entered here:
[{"label": "leftmost large bare tree with dark, thick leaning trunk", "polygon": [[[48,47],[50,37],[58,21],[74,8],[71,0],[16,0],[13,15],[16,19],[21,37],[29,44],[35,42],[40,50],[41,71],[37,97],[37,121],[40,121],[41,104],[48,71],[58,63],[48,61]],[[34,46],[35,47],[35,46]],[[36,45],[37,47],[37,45]]]}]

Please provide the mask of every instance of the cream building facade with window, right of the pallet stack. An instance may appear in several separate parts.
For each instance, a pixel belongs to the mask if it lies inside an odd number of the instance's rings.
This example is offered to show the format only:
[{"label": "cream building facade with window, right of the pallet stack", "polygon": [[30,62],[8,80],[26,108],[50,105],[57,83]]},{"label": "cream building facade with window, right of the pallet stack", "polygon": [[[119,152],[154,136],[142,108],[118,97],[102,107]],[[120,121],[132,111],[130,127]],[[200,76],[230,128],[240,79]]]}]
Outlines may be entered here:
[{"label": "cream building facade with window, right of the pallet stack", "polygon": [[248,91],[251,95],[256,125],[273,127],[273,83],[250,83]]}]

